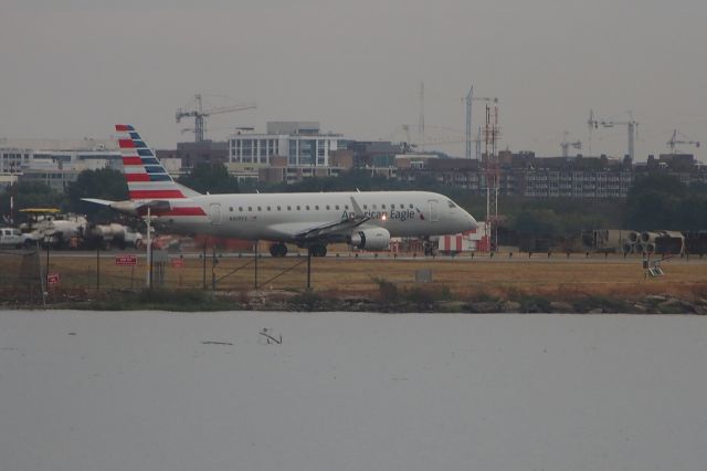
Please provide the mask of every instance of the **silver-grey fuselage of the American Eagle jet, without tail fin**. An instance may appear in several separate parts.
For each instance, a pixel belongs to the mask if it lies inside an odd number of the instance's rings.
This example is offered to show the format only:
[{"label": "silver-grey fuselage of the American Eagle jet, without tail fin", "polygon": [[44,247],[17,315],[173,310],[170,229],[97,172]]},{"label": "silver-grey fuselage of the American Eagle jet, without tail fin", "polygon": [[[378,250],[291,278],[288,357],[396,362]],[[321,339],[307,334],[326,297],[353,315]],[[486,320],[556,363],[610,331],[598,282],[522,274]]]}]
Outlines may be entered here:
[{"label": "silver-grey fuselage of the American Eagle jet, without tail fin", "polygon": [[370,218],[361,228],[383,228],[391,237],[456,233],[476,223],[445,196],[426,191],[203,195],[190,201],[205,216],[165,214],[154,222],[186,233],[287,242],[295,233],[352,218],[351,198]]}]

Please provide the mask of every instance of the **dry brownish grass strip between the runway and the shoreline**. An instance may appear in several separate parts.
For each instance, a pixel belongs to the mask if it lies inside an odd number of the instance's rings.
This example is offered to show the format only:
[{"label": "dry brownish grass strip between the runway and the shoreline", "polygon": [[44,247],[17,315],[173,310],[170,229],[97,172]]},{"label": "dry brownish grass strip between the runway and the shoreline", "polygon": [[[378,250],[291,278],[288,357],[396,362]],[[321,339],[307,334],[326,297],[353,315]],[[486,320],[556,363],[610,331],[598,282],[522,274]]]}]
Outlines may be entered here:
[{"label": "dry brownish grass strip between the runway and the shoreline", "polygon": [[[54,253],[50,259],[50,272],[60,273],[62,289],[130,290],[145,285],[145,259],[138,258],[135,268],[117,266],[114,255],[104,253],[99,270],[91,254]],[[163,264],[163,286],[168,289],[211,289],[244,292],[255,287],[255,260],[238,254],[211,254],[205,264],[198,253],[183,254],[181,266],[175,265],[179,255],[170,255]],[[44,260],[42,260],[44,264]],[[661,278],[644,278],[640,258],[621,259],[593,255],[585,259],[576,254],[534,255],[508,258],[458,257],[436,259],[393,259],[387,253],[373,259],[354,258],[349,253],[325,259],[312,259],[312,287],[329,295],[366,295],[377,292],[381,282],[390,282],[400,289],[425,286],[443,289],[455,297],[473,297],[481,294],[507,297],[509,293],[551,295],[572,299],[583,295],[634,297],[647,294],[672,294],[685,299],[707,296],[707,259],[689,261],[671,259],[662,263]],[[432,271],[432,282],[415,283],[415,272]],[[99,278],[97,280],[97,273]],[[154,274],[155,279],[158,278]],[[258,289],[304,290],[307,284],[306,257],[257,260]]]}]

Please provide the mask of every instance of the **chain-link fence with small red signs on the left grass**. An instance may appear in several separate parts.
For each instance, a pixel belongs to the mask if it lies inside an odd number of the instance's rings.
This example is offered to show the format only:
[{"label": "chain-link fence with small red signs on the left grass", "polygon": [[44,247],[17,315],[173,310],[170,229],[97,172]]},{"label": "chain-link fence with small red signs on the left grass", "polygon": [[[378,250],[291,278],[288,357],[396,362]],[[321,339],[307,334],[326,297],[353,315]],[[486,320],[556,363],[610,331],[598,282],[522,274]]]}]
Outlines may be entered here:
[{"label": "chain-link fence with small red signs on the left grass", "polygon": [[[242,291],[256,287],[299,290],[307,286],[307,257],[241,252],[154,251],[151,271],[145,252],[0,252],[0,289],[6,299],[43,291],[170,290]],[[17,294],[15,294],[17,293]]]}]

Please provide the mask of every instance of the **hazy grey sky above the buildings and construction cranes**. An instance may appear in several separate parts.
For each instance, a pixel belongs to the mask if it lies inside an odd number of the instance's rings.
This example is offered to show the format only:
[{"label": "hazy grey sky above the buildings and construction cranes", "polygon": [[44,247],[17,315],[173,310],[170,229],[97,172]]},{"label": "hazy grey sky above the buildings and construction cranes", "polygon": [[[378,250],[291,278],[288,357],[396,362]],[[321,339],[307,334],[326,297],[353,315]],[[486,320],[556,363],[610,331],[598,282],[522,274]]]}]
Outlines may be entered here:
[{"label": "hazy grey sky above the buildings and construction cranes", "polygon": [[[0,137],[127,122],[173,147],[193,138],[175,111],[201,92],[258,105],[212,117],[213,138],[310,119],[360,139],[402,140],[407,124],[414,139],[424,81],[426,140],[453,155],[473,83],[500,101],[500,148],[559,155],[568,130],[587,155],[590,108],[632,111],[644,160],[674,128],[707,140],[706,21],[704,0],[0,0]],[[625,126],[593,134],[592,154],[625,151]]]}]

